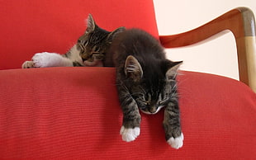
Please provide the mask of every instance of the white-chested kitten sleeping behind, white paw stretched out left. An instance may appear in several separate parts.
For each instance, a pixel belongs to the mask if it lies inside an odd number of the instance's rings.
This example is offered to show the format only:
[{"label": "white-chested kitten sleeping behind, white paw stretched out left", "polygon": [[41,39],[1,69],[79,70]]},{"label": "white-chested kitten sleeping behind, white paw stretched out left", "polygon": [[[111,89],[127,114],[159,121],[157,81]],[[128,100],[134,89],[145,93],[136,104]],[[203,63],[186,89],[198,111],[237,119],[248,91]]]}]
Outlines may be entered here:
[{"label": "white-chested kitten sleeping behind, white paw stretched out left", "polygon": [[88,16],[87,23],[85,33],[69,49],[69,52],[63,55],[48,52],[35,54],[31,61],[22,64],[22,68],[104,66],[105,54],[111,41],[125,28],[119,27],[112,32],[105,31],[97,26],[91,14]]}]

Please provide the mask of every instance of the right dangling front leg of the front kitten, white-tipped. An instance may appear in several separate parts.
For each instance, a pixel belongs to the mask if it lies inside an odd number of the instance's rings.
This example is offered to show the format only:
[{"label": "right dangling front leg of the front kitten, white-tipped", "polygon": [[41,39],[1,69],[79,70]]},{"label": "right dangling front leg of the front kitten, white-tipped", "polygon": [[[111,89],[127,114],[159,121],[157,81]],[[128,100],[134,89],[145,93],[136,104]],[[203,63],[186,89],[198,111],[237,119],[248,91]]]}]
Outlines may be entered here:
[{"label": "right dangling front leg of the front kitten, white-tipped", "polygon": [[165,139],[172,148],[183,147],[183,132],[180,125],[178,100],[168,103],[164,111]]}]

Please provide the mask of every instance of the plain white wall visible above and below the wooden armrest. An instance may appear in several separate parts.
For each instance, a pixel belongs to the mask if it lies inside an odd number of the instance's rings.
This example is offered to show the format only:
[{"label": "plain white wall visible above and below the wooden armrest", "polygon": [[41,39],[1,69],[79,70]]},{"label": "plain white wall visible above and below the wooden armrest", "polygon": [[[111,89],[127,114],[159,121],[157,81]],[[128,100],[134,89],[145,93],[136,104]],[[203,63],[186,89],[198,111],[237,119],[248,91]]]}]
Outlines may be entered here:
[{"label": "plain white wall visible above and below the wooden armrest", "polygon": [[[159,35],[190,31],[235,7],[249,7],[255,0],[154,0]],[[183,60],[183,70],[214,73],[239,79],[235,38],[229,32],[201,45],[166,49],[168,59]]]}]

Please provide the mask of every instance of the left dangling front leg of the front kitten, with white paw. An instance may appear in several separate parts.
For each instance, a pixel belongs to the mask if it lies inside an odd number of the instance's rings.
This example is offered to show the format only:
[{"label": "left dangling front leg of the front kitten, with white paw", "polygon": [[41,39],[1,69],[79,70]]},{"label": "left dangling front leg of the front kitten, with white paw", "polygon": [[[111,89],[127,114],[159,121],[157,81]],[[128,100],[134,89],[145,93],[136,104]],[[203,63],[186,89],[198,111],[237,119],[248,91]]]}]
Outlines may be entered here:
[{"label": "left dangling front leg of the front kitten, with white paw", "polygon": [[118,86],[119,101],[123,111],[123,123],[120,134],[126,142],[135,140],[140,135],[140,112],[137,103],[125,86]]}]

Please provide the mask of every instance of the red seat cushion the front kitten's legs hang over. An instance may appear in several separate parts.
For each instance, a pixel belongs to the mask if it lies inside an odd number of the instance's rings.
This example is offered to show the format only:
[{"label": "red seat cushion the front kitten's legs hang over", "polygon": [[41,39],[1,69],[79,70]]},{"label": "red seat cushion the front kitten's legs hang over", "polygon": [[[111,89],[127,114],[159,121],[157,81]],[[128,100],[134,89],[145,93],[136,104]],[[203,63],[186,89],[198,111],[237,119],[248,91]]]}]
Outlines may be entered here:
[{"label": "red seat cushion the front kitten's legs hang over", "polygon": [[0,158],[253,159],[256,95],[206,73],[178,76],[183,148],[169,147],[163,111],[142,114],[141,134],[121,140],[114,68],[0,72]]}]

